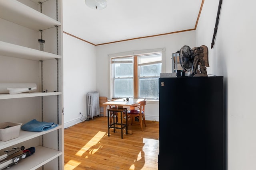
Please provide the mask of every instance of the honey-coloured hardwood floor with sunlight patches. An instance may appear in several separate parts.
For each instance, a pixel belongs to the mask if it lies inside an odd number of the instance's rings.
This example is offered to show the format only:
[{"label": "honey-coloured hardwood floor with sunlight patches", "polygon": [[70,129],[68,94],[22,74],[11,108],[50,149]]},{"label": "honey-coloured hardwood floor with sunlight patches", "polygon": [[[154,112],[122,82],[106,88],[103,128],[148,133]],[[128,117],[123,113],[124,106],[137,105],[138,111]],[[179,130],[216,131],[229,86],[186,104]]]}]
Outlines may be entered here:
[{"label": "honey-coloured hardwood floor with sunlight patches", "polygon": [[129,125],[133,134],[110,131],[107,117],[64,129],[65,170],[158,170],[159,122]]}]

